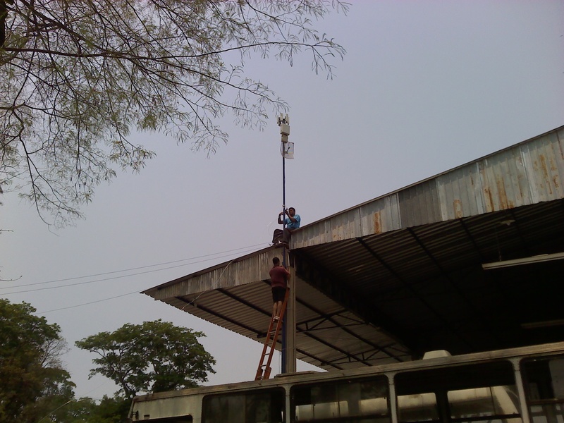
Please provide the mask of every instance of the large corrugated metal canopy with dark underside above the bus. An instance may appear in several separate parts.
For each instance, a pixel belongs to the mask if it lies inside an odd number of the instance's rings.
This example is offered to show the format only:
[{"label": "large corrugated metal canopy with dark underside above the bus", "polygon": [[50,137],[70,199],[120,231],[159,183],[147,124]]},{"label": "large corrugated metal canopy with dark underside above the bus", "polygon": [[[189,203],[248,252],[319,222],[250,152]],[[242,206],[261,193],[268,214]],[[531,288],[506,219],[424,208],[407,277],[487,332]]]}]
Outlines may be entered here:
[{"label": "large corrugated metal canopy with dark underside above the bus", "polygon": [[[268,247],[143,291],[262,343]],[[303,226],[295,345],[323,369],[564,339],[564,127]]]}]

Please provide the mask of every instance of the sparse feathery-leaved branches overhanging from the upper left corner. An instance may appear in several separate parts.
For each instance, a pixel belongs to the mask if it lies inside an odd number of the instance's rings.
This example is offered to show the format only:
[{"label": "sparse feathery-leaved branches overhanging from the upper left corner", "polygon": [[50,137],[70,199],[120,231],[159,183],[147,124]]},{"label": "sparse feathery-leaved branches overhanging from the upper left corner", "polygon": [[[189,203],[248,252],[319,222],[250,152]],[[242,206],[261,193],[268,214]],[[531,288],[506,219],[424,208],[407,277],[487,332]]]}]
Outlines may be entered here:
[{"label": "sparse feathery-leaved branches overhanging from the upper left corner", "polygon": [[344,50],[313,27],[338,0],[0,0],[0,188],[64,224],[94,188],[154,156],[158,131],[214,152],[231,112],[262,128],[286,103],[247,78],[245,59],[293,64],[308,51],[331,76]]}]

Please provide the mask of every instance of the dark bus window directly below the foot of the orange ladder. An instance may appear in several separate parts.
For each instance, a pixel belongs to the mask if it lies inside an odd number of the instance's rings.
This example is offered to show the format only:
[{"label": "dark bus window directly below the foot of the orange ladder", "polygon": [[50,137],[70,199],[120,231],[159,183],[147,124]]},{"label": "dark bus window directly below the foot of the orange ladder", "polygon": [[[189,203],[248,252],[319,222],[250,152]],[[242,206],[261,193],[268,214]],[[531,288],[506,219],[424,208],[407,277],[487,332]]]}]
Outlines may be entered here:
[{"label": "dark bus window directly below the foot of the orange ladder", "polygon": [[202,423],[282,423],[283,388],[205,396]]}]

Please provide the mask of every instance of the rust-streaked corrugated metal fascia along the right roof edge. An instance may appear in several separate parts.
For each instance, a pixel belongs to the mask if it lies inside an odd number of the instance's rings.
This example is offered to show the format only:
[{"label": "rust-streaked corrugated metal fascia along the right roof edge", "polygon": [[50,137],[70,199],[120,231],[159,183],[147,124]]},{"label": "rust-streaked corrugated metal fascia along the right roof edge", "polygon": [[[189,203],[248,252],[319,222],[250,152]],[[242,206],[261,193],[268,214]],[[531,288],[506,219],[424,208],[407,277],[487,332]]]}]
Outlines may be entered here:
[{"label": "rust-streaked corrugated metal fascia along the right roof edge", "polygon": [[564,127],[314,222],[293,248],[564,198]]}]

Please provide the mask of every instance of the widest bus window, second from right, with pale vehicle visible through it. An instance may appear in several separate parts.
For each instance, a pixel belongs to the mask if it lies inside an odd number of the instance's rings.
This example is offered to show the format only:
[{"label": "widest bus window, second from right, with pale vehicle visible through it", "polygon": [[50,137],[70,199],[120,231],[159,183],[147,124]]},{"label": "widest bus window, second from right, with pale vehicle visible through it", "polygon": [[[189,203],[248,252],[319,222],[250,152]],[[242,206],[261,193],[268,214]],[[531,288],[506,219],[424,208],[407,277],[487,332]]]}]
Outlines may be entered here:
[{"label": "widest bus window, second from right, with pale vehicle visible through it", "polygon": [[522,422],[510,362],[405,372],[395,381],[400,423]]}]

